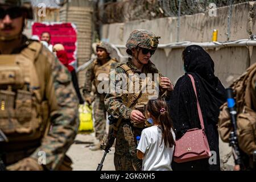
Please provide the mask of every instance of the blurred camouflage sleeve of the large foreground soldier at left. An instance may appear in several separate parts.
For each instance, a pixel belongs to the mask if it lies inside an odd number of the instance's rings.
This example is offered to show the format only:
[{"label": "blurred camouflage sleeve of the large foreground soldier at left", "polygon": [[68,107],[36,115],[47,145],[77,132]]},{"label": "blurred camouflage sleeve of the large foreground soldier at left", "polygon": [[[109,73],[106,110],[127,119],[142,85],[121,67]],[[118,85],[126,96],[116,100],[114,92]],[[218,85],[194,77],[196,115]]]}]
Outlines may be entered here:
[{"label": "blurred camouflage sleeve of the large foreground soldier at left", "polygon": [[[51,70],[47,80],[46,97],[50,107],[52,129],[43,137],[41,146],[32,154],[32,158],[39,159],[41,151],[45,152],[45,167],[54,170],[59,168],[65,153],[73,143],[79,120],[78,100],[71,83],[71,75],[57,59],[52,61]],[[52,89],[53,94],[48,93]]]}]

